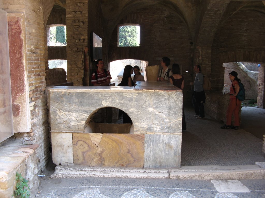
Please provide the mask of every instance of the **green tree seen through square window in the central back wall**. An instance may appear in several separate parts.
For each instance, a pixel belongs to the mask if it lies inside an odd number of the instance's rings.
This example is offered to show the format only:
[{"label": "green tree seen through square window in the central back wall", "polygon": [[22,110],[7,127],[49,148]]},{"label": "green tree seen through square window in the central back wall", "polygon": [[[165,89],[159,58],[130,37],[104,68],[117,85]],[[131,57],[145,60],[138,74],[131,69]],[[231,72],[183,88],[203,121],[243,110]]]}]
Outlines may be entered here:
[{"label": "green tree seen through square window in the central back wall", "polygon": [[137,29],[136,26],[126,25],[120,26],[119,28],[119,46],[139,46],[137,40]]}]

